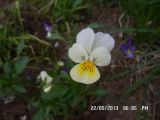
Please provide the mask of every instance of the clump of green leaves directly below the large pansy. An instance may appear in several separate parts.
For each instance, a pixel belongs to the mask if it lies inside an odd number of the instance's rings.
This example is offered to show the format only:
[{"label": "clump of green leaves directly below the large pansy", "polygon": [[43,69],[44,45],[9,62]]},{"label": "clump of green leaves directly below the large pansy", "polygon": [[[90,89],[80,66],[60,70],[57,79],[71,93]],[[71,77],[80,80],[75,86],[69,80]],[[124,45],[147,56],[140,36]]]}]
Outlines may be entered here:
[{"label": "clump of green leaves directly below the large pansy", "polygon": [[[57,69],[58,70],[58,69]],[[38,100],[31,102],[32,107],[38,109],[34,115],[34,119],[40,118],[43,111],[44,119],[50,119],[56,116],[64,116],[68,118],[72,110],[87,108],[89,96],[102,98],[106,95],[106,90],[95,88],[93,85],[83,85],[71,80],[68,73],[53,71],[50,73],[53,76],[52,88],[49,92],[41,92]],[[37,102],[38,101],[38,102]]]}]

